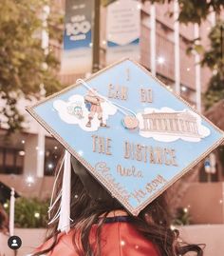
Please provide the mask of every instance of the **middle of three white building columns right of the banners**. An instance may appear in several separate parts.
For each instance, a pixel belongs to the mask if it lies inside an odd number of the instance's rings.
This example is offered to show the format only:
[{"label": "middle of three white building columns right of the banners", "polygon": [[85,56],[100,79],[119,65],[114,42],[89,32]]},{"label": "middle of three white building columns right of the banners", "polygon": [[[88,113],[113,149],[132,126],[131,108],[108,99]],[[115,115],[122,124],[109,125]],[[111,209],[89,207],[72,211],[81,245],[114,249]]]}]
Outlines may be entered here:
[{"label": "middle of three white building columns right of the banners", "polygon": [[178,1],[174,1],[175,90],[180,94]]}]

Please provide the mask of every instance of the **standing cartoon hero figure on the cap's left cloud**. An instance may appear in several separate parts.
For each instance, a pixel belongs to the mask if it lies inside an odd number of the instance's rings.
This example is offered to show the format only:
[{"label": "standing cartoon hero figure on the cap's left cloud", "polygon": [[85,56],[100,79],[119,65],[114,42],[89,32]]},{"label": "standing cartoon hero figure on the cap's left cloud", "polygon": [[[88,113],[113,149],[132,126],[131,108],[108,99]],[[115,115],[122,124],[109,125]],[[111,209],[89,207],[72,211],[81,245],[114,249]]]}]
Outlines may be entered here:
[{"label": "standing cartoon hero figure on the cap's left cloud", "polygon": [[104,100],[97,93],[95,93],[95,91],[96,89],[89,89],[87,94],[84,96],[85,107],[90,111],[88,114],[88,122],[85,127],[91,128],[91,121],[97,114],[97,117],[100,121],[100,126],[105,128],[106,124],[103,123],[103,108],[101,106]]}]

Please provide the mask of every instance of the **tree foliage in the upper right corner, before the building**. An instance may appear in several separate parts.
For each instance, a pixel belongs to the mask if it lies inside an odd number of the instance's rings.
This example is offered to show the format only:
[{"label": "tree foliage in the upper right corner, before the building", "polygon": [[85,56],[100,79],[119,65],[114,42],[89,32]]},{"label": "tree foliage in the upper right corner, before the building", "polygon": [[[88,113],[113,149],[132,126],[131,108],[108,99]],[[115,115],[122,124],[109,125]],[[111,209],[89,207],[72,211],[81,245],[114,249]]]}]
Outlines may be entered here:
[{"label": "tree foliage in the upper right corner, before the building", "polygon": [[[148,0],[143,0],[143,2]],[[150,0],[151,3],[164,4],[174,0]],[[210,108],[216,102],[224,98],[224,21],[221,20],[220,12],[224,9],[223,0],[178,0],[180,23],[200,24],[211,11],[215,11],[217,21],[212,28],[209,39],[210,49],[204,49],[198,45],[198,38],[190,42],[189,49],[202,53],[202,66],[207,66],[213,71],[209,87],[204,95],[205,107]],[[173,15],[171,12],[170,15]],[[188,49],[188,51],[189,51]]]}]

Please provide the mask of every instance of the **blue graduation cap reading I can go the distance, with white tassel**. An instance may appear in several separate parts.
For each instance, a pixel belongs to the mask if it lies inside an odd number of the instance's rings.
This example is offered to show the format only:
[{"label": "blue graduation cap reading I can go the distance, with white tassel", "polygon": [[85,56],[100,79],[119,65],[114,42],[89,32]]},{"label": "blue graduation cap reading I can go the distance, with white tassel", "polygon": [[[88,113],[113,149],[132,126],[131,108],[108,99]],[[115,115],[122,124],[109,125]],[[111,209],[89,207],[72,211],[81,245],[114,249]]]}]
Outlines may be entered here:
[{"label": "blue graduation cap reading I can go the distance, with white tassel", "polygon": [[83,181],[90,174],[138,215],[224,138],[195,108],[129,59],[78,79],[28,112],[66,149],[57,216],[62,231],[69,230],[70,154],[87,169],[85,174],[76,169]]}]

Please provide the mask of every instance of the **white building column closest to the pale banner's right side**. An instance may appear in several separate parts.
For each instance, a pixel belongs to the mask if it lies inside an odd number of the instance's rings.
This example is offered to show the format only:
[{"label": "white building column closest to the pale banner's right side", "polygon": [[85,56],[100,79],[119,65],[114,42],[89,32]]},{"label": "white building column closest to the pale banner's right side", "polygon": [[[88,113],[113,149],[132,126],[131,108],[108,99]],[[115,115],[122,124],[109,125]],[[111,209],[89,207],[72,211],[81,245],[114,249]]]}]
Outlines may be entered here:
[{"label": "white building column closest to the pale banner's right side", "polygon": [[151,49],[151,72],[154,76],[157,74],[156,69],[156,7],[150,7],[150,49]]}]

